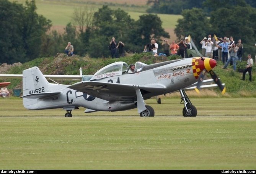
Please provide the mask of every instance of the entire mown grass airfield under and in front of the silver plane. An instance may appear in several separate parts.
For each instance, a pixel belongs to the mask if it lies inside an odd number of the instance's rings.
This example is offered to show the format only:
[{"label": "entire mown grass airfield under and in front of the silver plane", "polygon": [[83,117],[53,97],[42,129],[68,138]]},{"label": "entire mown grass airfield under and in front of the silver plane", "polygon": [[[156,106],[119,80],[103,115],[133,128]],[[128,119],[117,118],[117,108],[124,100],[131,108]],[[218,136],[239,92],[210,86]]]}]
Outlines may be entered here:
[{"label": "entire mown grass airfield under and in front of the silver plane", "polygon": [[136,110],[83,113],[30,111],[20,98],[1,102],[1,169],[255,169],[255,98],[145,100],[155,117]]}]

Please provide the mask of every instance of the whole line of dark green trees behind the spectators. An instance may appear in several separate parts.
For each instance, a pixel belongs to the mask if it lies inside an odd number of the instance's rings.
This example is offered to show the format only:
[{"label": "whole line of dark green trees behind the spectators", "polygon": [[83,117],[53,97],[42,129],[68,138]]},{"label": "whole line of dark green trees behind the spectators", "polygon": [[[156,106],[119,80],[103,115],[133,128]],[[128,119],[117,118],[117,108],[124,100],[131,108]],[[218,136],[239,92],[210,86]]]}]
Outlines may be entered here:
[{"label": "whole line of dark green trees behind the spectators", "polygon": [[[205,0],[204,5],[211,7],[209,14],[202,8],[182,10],[183,18],[178,19],[174,33],[178,39],[191,35],[197,48],[201,48],[199,43],[208,34],[233,36],[236,42],[242,39],[244,54],[252,54],[256,10],[245,0],[232,2]],[[36,13],[35,0],[26,0],[24,6],[8,0],[0,3],[0,63],[25,63],[38,57],[55,56],[64,52],[69,41],[74,45],[74,54],[102,58],[110,56],[108,45],[112,37],[123,41],[126,52],[130,53],[143,52],[151,38],[158,43],[163,37],[170,38],[155,14],[139,16],[135,21],[125,11],[112,10],[107,5],[95,11],[88,10],[88,6],[80,7],[74,9],[73,23],[68,23],[65,32],[59,34],[49,32],[51,20]],[[159,47],[161,52],[160,44]]]}]

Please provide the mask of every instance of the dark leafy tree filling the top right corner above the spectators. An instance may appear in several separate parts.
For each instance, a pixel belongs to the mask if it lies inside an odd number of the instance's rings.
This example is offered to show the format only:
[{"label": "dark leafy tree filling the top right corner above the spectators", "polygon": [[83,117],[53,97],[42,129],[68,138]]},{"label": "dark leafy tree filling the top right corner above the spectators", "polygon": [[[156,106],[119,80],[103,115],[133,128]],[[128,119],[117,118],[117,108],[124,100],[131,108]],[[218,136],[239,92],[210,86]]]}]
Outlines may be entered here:
[{"label": "dark leafy tree filling the top right corner above the spectators", "polygon": [[[207,0],[212,5],[214,0]],[[254,40],[256,37],[256,10],[247,5],[245,0],[222,2],[222,6],[212,5],[214,11],[210,13],[210,23],[218,37],[233,36],[234,41],[242,40],[244,55],[254,52]],[[245,58],[246,60],[246,58]]]}]

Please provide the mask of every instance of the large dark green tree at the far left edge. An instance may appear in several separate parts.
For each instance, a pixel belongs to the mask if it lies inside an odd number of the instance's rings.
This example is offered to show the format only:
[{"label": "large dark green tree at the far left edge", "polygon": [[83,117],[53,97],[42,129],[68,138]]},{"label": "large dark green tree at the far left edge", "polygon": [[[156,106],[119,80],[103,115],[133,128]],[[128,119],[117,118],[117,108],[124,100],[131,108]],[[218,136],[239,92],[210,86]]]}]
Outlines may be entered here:
[{"label": "large dark green tree at the far left edge", "polygon": [[37,58],[42,36],[51,27],[51,21],[36,13],[35,0],[25,6],[0,0],[0,63],[24,63]]}]

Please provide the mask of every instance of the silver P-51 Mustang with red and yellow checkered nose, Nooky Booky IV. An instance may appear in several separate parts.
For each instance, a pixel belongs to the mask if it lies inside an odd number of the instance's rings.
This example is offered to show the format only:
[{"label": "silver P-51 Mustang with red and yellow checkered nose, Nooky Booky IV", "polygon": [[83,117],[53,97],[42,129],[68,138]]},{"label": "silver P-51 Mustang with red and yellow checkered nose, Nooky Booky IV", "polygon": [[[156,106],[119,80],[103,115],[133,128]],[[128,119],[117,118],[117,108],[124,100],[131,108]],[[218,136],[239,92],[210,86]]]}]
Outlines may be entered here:
[{"label": "silver P-51 Mustang with red and yellow checkered nose, Nooky Booky IV", "polygon": [[[71,111],[86,108],[95,111],[123,111],[137,108],[142,117],[153,117],[155,111],[144,100],[157,95],[179,91],[184,104],[183,116],[195,117],[197,110],[184,89],[199,91],[204,82],[214,81],[222,93],[225,86],[212,69],[217,62],[212,58],[193,57],[155,64],[135,63],[135,73],[127,74],[128,64],[122,61],[109,64],[97,71],[90,80],[73,85],[49,83],[38,67],[23,71],[23,105],[29,110],[63,108],[65,117]],[[204,80],[209,71],[213,79]],[[203,86],[203,85],[202,85]]]}]

